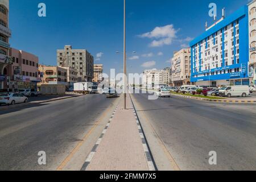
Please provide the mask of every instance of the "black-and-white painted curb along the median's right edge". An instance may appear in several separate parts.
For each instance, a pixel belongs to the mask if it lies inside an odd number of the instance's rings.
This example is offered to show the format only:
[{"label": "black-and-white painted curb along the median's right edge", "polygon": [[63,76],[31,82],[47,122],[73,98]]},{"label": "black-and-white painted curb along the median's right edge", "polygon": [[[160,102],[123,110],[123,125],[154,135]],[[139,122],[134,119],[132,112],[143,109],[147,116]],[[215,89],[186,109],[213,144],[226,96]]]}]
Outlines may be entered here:
[{"label": "black-and-white painted curb along the median's right edge", "polygon": [[144,134],[141,122],[139,121],[137,112],[135,110],[135,106],[134,106],[133,100],[131,99],[131,95],[130,94],[129,94],[129,96],[130,96],[131,104],[133,105],[133,113],[134,113],[134,117],[135,117],[136,122],[137,122],[138,130],[139,130],[139,135],[140,135],[141,140],[142,140],[142,146],[143,146],[144,153],[146,155],[148,169],[150,171],[158,171],[158,168],[156,167],[154,158],[152,156],[152,152],[151,152],[150,147],[148,145],[148,142],[147,142],[147,139],[146,139],[146,135]]}]

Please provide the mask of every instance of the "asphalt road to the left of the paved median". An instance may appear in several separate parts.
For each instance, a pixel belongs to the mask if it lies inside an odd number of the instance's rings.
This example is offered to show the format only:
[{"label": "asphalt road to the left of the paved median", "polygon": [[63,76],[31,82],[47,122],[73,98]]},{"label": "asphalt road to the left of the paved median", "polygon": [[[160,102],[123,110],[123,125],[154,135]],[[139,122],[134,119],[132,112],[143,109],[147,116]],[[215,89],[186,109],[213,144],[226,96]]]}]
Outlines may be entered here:
[{"label": "asphalt road to the left of the paved median", "polygon": [[114,101],[96,94],[0,110],[0,170],[55,170]]}]

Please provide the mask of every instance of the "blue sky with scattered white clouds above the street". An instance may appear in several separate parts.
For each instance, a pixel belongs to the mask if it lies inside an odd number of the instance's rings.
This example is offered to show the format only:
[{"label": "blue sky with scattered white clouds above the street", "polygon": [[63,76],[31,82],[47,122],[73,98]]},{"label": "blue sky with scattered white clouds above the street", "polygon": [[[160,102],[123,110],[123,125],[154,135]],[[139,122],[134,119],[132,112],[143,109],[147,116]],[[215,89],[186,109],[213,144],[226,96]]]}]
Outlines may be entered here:
[{"label": "blue sky with scattered white clouds above the street", "polygon": [[[40,2],[47,6],[45,18],[38,16]],[[248,0],[126,0],[128,72],[170,67],[173,52],[203,33],[206,21],[213,23],[211,2],[221,18],[222,7],[229,15]],[[11,0],[10,28],[11,47],[34,53],[41,64],[56,65],[56,49],[72,45],[88,49],[105,73],[122,71],[122,54],[115,53],[123,49],[122,0]]]}]

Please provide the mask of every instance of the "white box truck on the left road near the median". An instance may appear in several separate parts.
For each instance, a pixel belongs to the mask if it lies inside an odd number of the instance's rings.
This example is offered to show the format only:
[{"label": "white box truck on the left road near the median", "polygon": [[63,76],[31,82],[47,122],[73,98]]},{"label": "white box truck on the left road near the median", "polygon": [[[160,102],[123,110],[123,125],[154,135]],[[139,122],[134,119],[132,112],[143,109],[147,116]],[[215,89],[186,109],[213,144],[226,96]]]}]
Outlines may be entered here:
[{"label": "white box truck on the left road near the median", "polygon": [[97,86],[94,86],[92,82],[78,82],[74,84],[75,93],[92,94],[97,93]]}]

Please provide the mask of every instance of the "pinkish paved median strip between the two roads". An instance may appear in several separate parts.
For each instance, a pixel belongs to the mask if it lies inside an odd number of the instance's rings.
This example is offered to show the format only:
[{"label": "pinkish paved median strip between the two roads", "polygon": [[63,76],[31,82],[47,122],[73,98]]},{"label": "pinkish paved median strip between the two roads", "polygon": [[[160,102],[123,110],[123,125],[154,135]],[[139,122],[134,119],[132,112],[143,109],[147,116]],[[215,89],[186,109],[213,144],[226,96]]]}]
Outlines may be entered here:
[{"label": "pinkish paved median strip between the two roads", "polygon": [[129,95],[123,99],[87,157],[82,171],[148,171],[154,165]]}]

